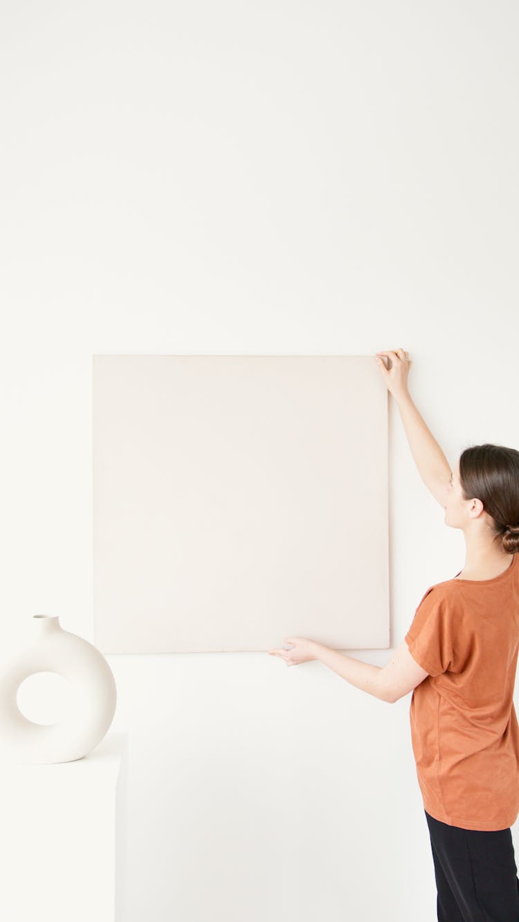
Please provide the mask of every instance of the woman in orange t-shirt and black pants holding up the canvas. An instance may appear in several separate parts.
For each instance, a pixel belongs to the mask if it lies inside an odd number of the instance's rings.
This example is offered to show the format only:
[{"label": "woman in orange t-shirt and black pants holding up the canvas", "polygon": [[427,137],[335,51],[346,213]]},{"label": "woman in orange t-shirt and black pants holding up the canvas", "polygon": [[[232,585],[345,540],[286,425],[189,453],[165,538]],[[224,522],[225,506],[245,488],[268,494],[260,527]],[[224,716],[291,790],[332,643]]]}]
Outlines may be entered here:
[{"label": "woman in orange t-shirt and black pants holding up the canvas", "polygon": [[[386,367],[383,356],[388,359]],[[510,827],[519,813],[519,452],[466,448],[451,471],[407,389],[404,349],[376,353],[419,474],[461,528],[466,563],[430,586],[384,667],[305,637],[269,650],[288,666],[318,659],[382,701],[413,691],[411,739],[431,837],[440,922],[518,922]]]}]

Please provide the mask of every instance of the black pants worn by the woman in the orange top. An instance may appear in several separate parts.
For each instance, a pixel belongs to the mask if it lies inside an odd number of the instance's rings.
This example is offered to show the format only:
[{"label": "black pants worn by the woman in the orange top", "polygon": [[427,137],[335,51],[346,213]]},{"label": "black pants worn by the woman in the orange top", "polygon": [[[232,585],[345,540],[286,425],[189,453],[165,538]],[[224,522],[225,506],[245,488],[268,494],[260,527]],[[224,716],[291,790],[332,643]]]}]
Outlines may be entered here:
[{"label": "black pants worn by the woman in the orange top", "polygon": [[519,922],[512,831],[449,826],[424,810],[431,835],[439,922]]}]

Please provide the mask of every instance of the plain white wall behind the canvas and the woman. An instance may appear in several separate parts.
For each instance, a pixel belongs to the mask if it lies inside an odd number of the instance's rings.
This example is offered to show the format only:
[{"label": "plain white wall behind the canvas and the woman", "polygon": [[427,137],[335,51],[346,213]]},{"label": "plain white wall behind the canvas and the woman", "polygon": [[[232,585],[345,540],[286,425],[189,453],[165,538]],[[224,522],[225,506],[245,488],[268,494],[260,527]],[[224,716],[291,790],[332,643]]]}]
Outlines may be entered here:
[{"label": "plain white wall behind the canvas and the woman", "polygon": [[[517,447],[518,19],[502,0],[5,6],[5,643],[35,613],[92,640],[92,353],[402,346],[451,462]],[[395,648],[465,544],[393,402],[389,450]],[[265,654],[107,658],[128,922],[433,922],[410,696]]]}]

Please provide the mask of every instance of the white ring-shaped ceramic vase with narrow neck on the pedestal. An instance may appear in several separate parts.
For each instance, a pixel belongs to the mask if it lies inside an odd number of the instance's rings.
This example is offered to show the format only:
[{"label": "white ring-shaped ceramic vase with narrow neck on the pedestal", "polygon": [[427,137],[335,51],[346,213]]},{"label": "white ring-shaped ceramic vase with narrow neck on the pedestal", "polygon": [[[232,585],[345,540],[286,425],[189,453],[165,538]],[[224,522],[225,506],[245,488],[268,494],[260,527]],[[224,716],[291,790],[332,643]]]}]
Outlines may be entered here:
[{"label": "white ring-shaped ceramic vase with narrow neck on the pedestal", "polygon": [[[2,757],[18,764],[74,762],[92,750],[112,724],[117,689],[100,651],[65,631],[59,617],[33,615],[32,641],[4,654],[0,664],[0,746]],[[35,672],[56,672],[69,682],[69,710],[51,726],[21,713],[18,687]]]}]

